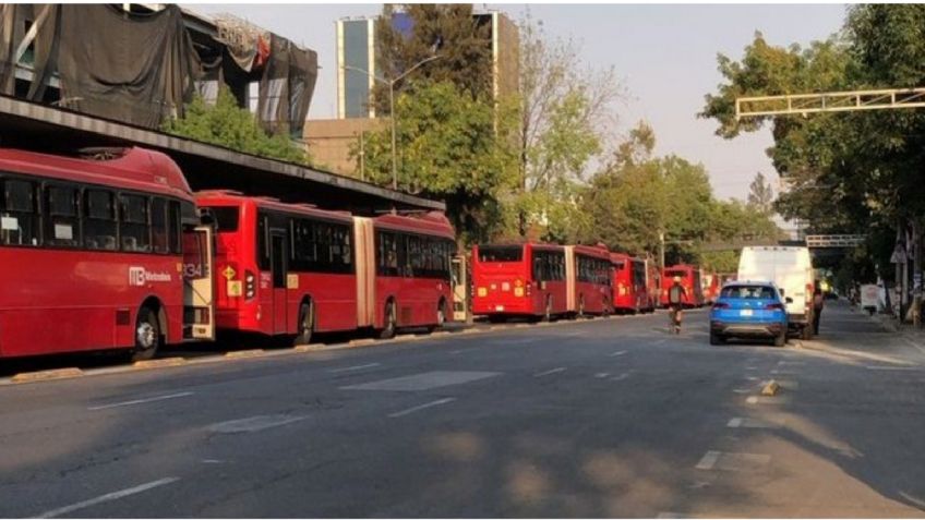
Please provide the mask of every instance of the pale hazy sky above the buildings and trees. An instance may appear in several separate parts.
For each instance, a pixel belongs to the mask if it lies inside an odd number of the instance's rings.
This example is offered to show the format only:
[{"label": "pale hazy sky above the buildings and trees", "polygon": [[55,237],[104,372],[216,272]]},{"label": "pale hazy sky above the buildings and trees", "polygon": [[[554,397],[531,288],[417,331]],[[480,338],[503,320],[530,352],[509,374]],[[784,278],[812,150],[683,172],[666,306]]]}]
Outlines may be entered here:
[{"label": "pale hazy sky above the buildings and trees", "polygon": [[[335,116],[336,62],[334,22],[371,16],[382,4],[207,4],[185,5],[215,14],[228,12],[319,53],[319,81],[310,119]],[[713,134],[712,120],[698,119],[704,96],[722,77],[717,53],[740,59],[760,31],[772,45],[806,45],[837,33],[843,22],[841,4],[746,5],[604,5],[604,4],[476,4],[497,9],[514,21],[526,9],[543,22],[552,37],[574,38],[586,63],[613,65],[626,98],[615,108],[620,138],[644,119],[656,132],[656,153],[675,154],[702,164],[718,197],[744,199],[760,171],[777,192],[778,176],[765,154],[772,144],[762,130],[728,141]]]}]

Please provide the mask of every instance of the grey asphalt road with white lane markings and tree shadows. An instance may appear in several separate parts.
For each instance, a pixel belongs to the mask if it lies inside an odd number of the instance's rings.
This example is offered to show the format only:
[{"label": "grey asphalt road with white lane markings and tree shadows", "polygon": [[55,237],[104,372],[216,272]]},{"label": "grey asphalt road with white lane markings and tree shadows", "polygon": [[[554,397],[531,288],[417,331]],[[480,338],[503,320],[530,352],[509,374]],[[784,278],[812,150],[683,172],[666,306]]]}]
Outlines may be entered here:
[{"label": "grey asphalt road with white lane markings and tree shadows", "polygon": [[706,319],[3,386],[0,517],[925,516],[922,346],[843,305],[783,349]]}]

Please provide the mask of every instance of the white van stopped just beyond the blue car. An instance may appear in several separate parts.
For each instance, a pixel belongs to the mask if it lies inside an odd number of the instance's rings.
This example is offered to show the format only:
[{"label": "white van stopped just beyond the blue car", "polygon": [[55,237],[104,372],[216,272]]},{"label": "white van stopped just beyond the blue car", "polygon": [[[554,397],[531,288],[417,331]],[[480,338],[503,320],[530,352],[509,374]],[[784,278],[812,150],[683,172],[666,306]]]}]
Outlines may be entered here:
[{"label": "white van stopped just beyond the blue car", "polygon": [[813,336],[813,261],[808,247],[760,245],[742,249],[737,280],[772,281],[786,300],[791,330]]}]

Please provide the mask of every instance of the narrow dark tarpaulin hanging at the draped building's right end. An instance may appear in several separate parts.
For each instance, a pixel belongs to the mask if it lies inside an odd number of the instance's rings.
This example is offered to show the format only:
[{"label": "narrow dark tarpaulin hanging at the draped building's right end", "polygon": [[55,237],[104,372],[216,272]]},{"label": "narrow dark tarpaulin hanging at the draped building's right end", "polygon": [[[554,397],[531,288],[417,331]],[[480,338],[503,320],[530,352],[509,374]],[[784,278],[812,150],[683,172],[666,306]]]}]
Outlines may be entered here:
[{"label": "narrow dark tarpaulin hanging at the draped building's right end", "polygon": [[301,136],[317,80],[317,53],[275,34],[269,49],[257,99],[260,121],[272,133]]}]

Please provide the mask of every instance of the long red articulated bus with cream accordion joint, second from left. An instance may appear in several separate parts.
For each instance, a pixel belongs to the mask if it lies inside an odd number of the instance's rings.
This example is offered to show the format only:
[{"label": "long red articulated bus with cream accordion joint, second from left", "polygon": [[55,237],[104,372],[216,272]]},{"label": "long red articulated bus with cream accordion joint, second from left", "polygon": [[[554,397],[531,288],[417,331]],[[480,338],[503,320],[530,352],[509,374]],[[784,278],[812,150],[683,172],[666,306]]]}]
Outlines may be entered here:
[{"label": "long red articulated bus with cream accordion joint, second from left", "polygon": [[214,216],[220,330],[295,335],[443,324],[453,227],[442,214],[352,217],[237,192],[197,194]]}]

